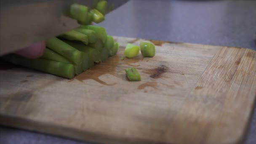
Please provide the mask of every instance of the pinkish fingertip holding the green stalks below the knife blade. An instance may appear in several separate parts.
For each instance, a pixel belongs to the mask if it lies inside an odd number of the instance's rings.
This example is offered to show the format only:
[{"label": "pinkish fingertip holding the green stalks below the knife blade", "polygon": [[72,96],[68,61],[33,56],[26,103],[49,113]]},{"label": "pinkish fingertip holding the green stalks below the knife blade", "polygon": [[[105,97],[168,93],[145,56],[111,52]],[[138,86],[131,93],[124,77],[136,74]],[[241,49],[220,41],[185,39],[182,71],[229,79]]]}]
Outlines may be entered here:
[{"label": "pinkish fingertip holding the green stalks below the knife blade", "polygon": [[34,43],[34,44],[30,45],[29,47],[23,48],[14,53],[16,53],[20,56],[27,57],[29,59],[37,59],[43,55],[44,50],[45,50],[45,41],[39,42],[39,43]]}]

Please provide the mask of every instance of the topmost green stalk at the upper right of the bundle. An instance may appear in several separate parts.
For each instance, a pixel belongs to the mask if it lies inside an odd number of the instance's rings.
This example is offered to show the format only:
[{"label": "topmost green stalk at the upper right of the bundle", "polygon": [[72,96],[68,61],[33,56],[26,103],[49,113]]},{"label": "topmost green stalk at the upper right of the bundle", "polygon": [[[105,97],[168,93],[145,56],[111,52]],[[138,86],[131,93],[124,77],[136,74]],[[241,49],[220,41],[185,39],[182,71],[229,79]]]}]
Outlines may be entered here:
[{"label": "topmost green stalk at the upper right of the bundle", "polygon": [[107,32],[104,27],[94,26],[94,25],[87,25],[81,26],[82,29],[90,29],[96,32],[97,37],[103,42],[106,43],[107,41]]}]

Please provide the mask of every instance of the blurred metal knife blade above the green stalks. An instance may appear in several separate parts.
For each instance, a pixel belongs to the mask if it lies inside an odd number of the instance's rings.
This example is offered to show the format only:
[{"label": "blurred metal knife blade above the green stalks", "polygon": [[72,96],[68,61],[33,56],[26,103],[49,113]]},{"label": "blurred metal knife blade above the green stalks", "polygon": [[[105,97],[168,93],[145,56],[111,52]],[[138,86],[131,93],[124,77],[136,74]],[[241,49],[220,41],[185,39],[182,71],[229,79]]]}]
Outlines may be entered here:
[{"label": "blurred metal knife blade above the green stalks", "polygon": [[[0,0],[0,56],[78,27],[75,19],[67,17],[70,5],[79,3],[93,8],[97,1]],[[107,0],[113,9],[127,1]]]}]

